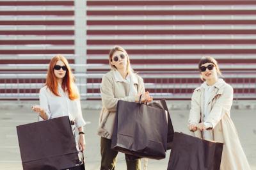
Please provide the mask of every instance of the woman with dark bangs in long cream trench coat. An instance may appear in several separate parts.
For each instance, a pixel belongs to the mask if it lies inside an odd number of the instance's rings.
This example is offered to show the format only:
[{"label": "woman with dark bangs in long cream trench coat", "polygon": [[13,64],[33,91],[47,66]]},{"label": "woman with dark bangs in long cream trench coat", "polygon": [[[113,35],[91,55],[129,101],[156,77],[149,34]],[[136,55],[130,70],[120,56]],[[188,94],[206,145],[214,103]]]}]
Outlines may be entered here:
[{"label": "woman with dark bangs in long cream trench coat", "polygon": [[230,118],[232,86],[218,78],[221,72],[214,58],[200,59],[198,69],[204,83],[192,95],[189,130],[200,130],[202,133],[197,131],[197,137],[224,143],[221,170],[250,170],[236,127]]}]

